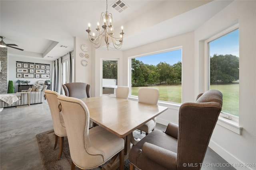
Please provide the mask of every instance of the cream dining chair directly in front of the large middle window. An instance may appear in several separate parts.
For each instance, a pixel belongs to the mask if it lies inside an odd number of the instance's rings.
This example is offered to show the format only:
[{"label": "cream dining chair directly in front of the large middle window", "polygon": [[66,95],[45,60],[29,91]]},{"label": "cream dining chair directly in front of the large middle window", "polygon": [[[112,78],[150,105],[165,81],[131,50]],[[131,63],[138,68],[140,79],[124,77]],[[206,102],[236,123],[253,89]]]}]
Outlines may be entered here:
[{"label": "cream dining chair directly in front of the large middle window", "polygon": [[[159,97],[159,90],[156,88],[140,88],[138,90],[138,102],[147,104],[157,104]],[[140,131],[146,132],[146,135],[150,131],[154,131],[156,127],[156,117],[148,121],[146,124],[138,128]]]}]

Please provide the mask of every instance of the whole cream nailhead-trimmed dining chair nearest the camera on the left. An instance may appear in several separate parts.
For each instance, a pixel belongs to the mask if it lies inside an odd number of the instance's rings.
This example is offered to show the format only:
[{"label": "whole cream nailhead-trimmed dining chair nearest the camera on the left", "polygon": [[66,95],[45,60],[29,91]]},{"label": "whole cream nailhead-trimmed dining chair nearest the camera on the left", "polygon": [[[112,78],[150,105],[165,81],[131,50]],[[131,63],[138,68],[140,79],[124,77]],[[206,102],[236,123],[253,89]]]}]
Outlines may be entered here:
[{"label": "whole cream nailhead-trimmed dining chair nearest the camera on the left", "polygon": [[72,170],[75,166],[91,169],[119,154],[120,170],[124,169],[124,139],[101,126],[89,129],[90,113],[78,98],[58,96],[59,111],[65,121]]}]

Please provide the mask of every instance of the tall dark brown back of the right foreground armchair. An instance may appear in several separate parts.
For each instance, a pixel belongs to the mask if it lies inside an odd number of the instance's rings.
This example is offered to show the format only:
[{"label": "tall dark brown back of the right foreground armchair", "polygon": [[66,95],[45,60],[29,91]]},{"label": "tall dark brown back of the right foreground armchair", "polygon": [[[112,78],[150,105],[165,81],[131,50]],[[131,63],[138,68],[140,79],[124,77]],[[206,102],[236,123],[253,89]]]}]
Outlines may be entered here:
[{"label": "tall dark brown back of the right foreground armchair", "polygon": [[184,169],[184,162],[200,166],[221,109],[222,93],[218,90],[199,94],[196,102],[180,106],[176,160],[178,169]]}]

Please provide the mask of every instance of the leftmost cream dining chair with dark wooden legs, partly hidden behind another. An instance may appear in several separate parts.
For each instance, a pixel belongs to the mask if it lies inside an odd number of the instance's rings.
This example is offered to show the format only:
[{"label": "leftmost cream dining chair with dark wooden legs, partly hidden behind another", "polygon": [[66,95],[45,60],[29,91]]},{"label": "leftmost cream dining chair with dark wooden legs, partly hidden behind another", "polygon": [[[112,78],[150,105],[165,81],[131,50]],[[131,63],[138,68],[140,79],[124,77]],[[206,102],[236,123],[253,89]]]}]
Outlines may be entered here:
[{"label": "leftmost cream dining chair with dark wooden legs, partly hidden behind another", "polygon": [[67,136],[65,123],[63,121],[62,115],[58,111],[58,99],[57,97],[60,94],[54,92],[52,90],[44,90],[44,99],[47,100],[48,105],[50,107],[51,115],[52,115],[52,124],[55,134],[55,145],[54,149],[56,149],[59,139],[59,155],[58,160],[60,160],[64,145],[64,137]]}]

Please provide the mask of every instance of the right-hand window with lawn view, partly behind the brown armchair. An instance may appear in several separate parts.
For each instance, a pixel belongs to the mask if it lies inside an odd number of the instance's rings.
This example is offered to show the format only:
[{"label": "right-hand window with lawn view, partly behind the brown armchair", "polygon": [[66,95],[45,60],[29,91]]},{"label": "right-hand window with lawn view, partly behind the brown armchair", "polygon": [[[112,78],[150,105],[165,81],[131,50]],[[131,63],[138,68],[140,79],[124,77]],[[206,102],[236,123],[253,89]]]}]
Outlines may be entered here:
[{"label": "right-hand window with lawn view, partly behind the brown armchair", "polygon": [[222,113],[239,115],[239,29],[208,41],[209,89],[223,94]]}]

